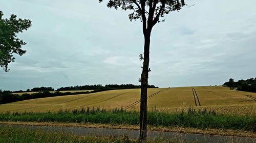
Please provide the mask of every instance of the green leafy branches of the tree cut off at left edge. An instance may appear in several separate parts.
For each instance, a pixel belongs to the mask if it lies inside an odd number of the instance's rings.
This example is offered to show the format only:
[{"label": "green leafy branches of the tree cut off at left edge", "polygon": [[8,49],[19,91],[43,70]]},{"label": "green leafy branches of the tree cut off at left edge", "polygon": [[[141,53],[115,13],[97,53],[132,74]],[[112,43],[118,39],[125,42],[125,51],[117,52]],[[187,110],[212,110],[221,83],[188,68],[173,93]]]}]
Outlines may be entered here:
[{"label": "green leafy branches of the tree cut off at left edge", "polygon": [[14,62],[13,53],[23,55],[26,50],[22,45],[26,43],[17,38],[18,33],[28,30],[31,21],[28,19],[16,19],[16,15],[11,15],[9,19],[2,19],[3,12],[0,11],[0,66],[8,72],[8,64]]}]

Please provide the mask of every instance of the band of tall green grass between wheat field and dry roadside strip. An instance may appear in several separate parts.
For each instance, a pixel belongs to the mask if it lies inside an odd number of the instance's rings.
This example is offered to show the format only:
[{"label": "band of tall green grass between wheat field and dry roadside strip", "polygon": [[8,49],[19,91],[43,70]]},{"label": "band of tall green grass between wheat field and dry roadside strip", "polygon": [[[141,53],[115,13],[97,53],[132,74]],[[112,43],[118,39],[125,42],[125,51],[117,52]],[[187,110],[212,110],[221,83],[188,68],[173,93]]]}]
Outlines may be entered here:
[{"label": "band of tall green grass between wheat field and dry roadside strip", "polygon": [[[74,122],[100,124],[139,125],[139,112],[121,109],[106,110],[98,108],[81,108],[59,110],[58,112],[6,112],[0,114],[0,121],[22,122]],[[198,129],[238,129],[256,131],[255,116],[222,115],[214,110],[189,108],[176,113],[159,110],[148,111],[147,124],[152,126],[179,126]]]}]

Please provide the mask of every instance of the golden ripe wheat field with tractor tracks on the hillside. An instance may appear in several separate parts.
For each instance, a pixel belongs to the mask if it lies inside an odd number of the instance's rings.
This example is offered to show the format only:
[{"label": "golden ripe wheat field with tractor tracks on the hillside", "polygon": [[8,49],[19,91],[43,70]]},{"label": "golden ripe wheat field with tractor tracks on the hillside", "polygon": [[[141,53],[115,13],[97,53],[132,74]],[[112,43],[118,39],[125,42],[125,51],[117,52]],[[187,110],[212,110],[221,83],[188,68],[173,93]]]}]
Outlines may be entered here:
[{"label": "golden ripe wheat field with tractor tracks on the hillside", "polygon": [[[194,91],[191,87],[148,89],[148,109],[177,111],[193,107],[214,109],[223,113],[256,115],[256,93],[234,91],[225,87],[194,87],[194,89]],[[138,109],[139,99],[140,89],[112,90],[2,104],[0,112],[57,111],[87,106]]]}]

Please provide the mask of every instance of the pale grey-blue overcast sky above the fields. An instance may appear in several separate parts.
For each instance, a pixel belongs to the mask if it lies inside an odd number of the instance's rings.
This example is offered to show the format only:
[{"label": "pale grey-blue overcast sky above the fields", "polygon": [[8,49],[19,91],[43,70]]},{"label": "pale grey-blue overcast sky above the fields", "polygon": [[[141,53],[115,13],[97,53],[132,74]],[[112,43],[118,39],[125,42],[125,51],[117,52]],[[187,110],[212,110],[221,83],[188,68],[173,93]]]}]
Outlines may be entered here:
[{"label": "pale grey-blue overcast sky above the fields", "polygon": [[[142,26],[98,0],[0,0],[4,18],[30,19],[23,56],[0,70],[0,89],[140,84]],[[149,83],[220,85],[256,77],[256,1],[191,0],[152,31]]]}]

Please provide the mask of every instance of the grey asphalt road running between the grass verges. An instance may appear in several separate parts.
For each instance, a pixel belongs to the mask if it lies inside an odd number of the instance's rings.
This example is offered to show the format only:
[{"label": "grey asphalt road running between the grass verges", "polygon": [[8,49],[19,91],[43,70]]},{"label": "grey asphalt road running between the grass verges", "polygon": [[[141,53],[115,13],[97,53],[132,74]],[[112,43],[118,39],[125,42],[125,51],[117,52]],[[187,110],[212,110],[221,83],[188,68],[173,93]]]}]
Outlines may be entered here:
[{"label": "grey asphalt road running between the grass verges", "polygon": [[[20,128],[29,130],[42,130],[47,132],[62,132],[73,135],[86,135],[86,136],[115,136],[122,137],[123,135],[129,136],[129,138],[137,139],[139,137],[138,130],[124,130],[124,129],[101,129],[101,128],[82,128],[82,127],[55,127],[55,126],[30,126],[30,125],[7,125],[0,124],[2,127],[7,128]],[[247,137],[233,137],[233,136],[219,136],[219,135],[201,135],[201,134],[184,134],[174,132],[160,132],[160,131],[148,131],[147,138],[150,140],[155,139],[178,139],[184,142],[199,141],[202,143],[224,143],[224,142],[243,142],[243,143],[256,143],[256,138]]]}]

